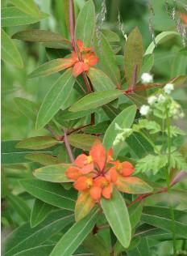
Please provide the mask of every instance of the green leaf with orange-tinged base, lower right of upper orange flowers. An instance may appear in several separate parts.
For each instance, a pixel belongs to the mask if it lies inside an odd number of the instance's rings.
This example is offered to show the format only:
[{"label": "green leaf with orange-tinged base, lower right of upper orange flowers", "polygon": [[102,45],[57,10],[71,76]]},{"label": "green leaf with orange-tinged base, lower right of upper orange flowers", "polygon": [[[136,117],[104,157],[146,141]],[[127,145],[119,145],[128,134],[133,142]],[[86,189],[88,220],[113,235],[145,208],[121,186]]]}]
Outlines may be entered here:
[{"label": "green leaf with orange-tinged base, lower right of upper orange flowers", "polygon": [[107,91],[115,88],[112,80],[102,70],[98,70],[94,67],[89,68],[89,79],[91,80],[94,89],[96,91]]}]

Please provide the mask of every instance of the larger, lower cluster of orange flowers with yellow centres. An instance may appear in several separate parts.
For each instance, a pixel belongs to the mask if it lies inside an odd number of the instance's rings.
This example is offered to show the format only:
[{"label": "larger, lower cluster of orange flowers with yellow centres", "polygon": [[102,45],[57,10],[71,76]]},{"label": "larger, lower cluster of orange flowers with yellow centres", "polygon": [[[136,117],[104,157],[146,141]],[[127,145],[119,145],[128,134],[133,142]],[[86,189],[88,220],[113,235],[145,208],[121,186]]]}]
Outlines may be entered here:
[{"label": "larger, lower cluster of orange flowers with yellow centres", "polygon": [[96,141],[89,151],[89,156],[77,156],[74,165],[66,171],[66,176],[74,181],[76,190],[89,194],[95,201],[103,196],[110,198],[113,186],[118,184],[118,179],[129,177],[134,172],[130,162],[120,163],[113,160],[113,151],[106,152],[100,141]]}]

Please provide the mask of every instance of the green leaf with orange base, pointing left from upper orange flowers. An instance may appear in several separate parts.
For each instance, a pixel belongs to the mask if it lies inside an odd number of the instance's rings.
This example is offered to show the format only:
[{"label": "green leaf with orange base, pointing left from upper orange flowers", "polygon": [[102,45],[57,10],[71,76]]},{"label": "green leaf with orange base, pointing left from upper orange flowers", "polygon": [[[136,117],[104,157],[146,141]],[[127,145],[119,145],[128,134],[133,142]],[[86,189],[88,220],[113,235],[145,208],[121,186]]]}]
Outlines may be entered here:
[{"label": "green leaf with orange base, pointing left from upper orange flowers", "polygon": [[36,70],[32,71],[31,74],[28,75],[28,78],[32,79],[38,76],[52,75],[53,73],[64,70],[70,66],[72,66],[71,59],[56,58],[50,62],[46,62],[43,65],[40,65]]}]

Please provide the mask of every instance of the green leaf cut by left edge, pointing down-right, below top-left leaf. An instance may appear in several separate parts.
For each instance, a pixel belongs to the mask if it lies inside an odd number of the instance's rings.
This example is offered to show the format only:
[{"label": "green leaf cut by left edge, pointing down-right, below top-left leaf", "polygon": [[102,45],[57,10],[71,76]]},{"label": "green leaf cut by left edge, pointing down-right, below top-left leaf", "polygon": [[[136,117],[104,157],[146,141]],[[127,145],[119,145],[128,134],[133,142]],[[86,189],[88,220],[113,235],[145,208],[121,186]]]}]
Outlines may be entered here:
[{"label": "green leaf cut by left edge, pointing down-right, below top-left leaf", "polygon": [[2,60],[13,66],[23,68],[23,60],[15,43],[2,29]]}]

